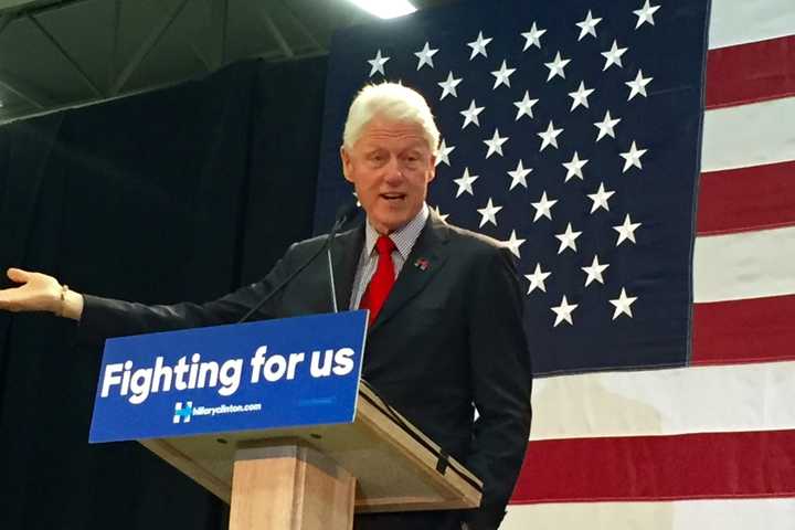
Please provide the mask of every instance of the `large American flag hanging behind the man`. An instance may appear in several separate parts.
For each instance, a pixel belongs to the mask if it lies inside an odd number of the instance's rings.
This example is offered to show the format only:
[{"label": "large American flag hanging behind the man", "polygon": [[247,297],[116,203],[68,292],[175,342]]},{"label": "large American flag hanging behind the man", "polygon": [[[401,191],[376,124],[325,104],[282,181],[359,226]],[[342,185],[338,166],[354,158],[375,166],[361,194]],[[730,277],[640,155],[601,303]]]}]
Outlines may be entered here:
[{"label": "large American flag hanging behind the man", "polygon": [[[795,8],[746,3],[468,2],[335,40],[318,229],[348,104],[400,81],[443,135],[431,204],[519,259],[549,377],[506,528],[795,520]],[[692,502],[721,498],[763,500]]]}]

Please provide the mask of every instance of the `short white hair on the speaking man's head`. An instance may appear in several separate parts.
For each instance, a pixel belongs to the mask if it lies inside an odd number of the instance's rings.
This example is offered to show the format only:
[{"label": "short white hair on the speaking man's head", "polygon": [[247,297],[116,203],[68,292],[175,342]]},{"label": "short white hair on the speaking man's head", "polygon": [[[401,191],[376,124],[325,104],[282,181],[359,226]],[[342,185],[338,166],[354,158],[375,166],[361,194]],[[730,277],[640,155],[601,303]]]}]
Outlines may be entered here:
[{"label": "short white hair on the speaking man's head", "polygon": [[351,103],[342,134],[346,149],[353,147],[361,137],[362,129],[377,116],[421,126],[431,153],[436,156],[439,131],[425,98],[406,86],[386,82],[364,86]]}]

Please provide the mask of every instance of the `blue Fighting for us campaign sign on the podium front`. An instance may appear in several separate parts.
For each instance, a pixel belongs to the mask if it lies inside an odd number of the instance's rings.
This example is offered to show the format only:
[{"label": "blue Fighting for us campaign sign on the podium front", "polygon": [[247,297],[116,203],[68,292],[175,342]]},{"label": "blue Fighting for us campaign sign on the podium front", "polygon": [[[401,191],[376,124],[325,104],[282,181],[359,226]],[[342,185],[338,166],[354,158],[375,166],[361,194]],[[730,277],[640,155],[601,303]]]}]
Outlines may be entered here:
[{"label": "blue Fighting for us campaign sign on the podium front", "polygon": [[89,442],[350,423],[367,311],[108,339]]}]

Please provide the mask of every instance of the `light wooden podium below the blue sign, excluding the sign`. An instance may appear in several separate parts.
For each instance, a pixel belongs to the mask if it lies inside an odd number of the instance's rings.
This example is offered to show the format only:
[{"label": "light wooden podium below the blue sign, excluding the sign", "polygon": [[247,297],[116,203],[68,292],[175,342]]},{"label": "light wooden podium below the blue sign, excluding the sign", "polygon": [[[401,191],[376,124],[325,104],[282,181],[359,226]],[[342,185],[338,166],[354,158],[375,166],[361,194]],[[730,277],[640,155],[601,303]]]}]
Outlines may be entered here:
[{"label": "light wooden podium below the blue sign, excluding the sign", "polygon": [[232,530],[350,529],[354,511],[480,504],[480,480],[365,384],[352,424],[140,443],[231,504]]}]

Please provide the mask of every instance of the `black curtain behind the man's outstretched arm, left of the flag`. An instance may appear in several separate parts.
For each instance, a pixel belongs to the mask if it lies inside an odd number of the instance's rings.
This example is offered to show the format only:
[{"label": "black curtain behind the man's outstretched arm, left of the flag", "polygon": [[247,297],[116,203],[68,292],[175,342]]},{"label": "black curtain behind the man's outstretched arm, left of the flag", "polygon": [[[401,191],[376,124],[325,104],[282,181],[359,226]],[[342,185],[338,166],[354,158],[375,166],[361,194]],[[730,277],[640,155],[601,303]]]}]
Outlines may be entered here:
[{"label": "black curtain behind the man's outstretched arm, left of the flag", "polygon": [[[145,303],[261,277],[311,234],[325,76],[325,57],[247,62],[0,127],[0,268]],[[74,336],[0,314],[0,528],[225,528],[137,443],[87,444],[100,351]]]}]

